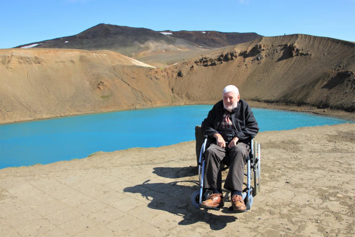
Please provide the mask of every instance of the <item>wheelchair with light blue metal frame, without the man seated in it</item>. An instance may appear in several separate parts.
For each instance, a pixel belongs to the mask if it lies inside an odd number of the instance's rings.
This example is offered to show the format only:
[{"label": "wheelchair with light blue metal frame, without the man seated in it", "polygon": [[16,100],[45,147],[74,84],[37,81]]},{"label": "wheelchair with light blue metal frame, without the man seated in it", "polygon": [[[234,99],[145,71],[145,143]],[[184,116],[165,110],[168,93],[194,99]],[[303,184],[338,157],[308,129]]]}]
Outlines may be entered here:
[{"label": "wheelchair with light blue metal frame, without the man seated in it", "polygon": [[[191,194],[191,203],[196,208],[201,208],[201,203],[207,199],[209,193],[206,188],[203,188],[204,179],[204,169],[205,163],[204,153],[207,144],[207,135],[204,135],[204,142],[200,151],[200,160],[198,162],[198,180],[199,180],[199,190],[196,190]],[[245,162],[247,165],[247,171],[244,175],[247,177],[246,188],[242,191],[242,197],[246,206],[246,210],[250,210],[253,205],[253,196],[260,192],[260,143],[254,140],[255,135],[250,136],[250,153],[247,156]],[[225,160],[225,159],[224,159]],[[220,165],[220,171],[227,169],[229,163],[222,160]],[[224,167],[226,166],[226,167]],[[253,175],[252,175],[253,174]],[[253,180],[253,187],[251,186],[251,181]],[[219,210],[219,208],[214,208],[214,210]]]}]

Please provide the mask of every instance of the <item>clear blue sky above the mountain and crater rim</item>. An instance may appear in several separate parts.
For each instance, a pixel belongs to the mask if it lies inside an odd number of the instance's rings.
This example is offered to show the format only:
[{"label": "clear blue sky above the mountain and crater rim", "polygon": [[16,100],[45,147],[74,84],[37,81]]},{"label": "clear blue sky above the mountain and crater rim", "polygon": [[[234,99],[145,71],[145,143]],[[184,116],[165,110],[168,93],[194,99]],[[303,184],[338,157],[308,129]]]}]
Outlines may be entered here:
[{"label": "clear blue sky above the mountain and crater rim", "polygon": [[0,48],[71,36],[99,23],[355,41],[355,0],[2,0],[0,6]]}]

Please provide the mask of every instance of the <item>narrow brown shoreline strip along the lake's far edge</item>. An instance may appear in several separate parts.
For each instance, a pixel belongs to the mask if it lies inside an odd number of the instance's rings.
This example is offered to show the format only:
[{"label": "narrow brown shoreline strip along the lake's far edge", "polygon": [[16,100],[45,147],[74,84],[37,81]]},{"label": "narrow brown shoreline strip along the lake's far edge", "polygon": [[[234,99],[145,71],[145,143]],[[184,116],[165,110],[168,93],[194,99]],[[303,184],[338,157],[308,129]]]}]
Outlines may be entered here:
[{"label": "narrow brown shoreline strip along the lake's far edge", "polygon": [[[354,112],[346,112],[338,109],[320,109],[312,106],[294,106],[294,105],[285,105],[280,103],[265,103],[265,102],[257,102],[257,101],[247,101],[247,103],[252,108],[265,108],[265,109],[275,109],[275,110],[283,110],[283,111],[295,111],[295,112],[307,112],[314,113],[319,115],[326,115],[330,117],[342,118],[355,121],[355,113]],[[158,107],[167,107],[167,106],[182,106],[182,105],[196,105],[196,104],[211,104],[211,103],[176,103],[176,104],[166,104],[166,105],[157,105],[151,107],[127,107],[122,109],[107,109],[102,111],[92,111],[91,113],[70,113],[70,114],[61,114],[61,115],[44,115],[42,117],[31,117],[24,119],[9,119],[5,121],[0,121],[0,125],[3,124],[12,124],[12,123],[22,123],[22,122],[31,122],[31,121],[39,121],[45,119],[53,119],[53,118],[61,118],[61,117],[71,117],[76,115],[87,115],[87,114],[97,114],[97,113],[110,113],[110,112],[119,112],[126,110],[134,110],[134,109],[148,109],[148,108],[158,108]]]}]

